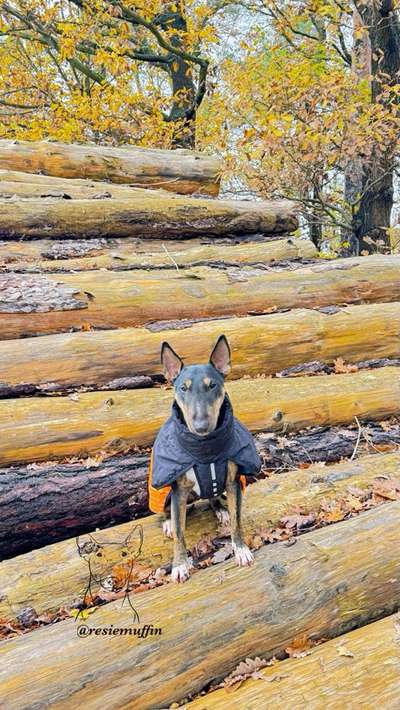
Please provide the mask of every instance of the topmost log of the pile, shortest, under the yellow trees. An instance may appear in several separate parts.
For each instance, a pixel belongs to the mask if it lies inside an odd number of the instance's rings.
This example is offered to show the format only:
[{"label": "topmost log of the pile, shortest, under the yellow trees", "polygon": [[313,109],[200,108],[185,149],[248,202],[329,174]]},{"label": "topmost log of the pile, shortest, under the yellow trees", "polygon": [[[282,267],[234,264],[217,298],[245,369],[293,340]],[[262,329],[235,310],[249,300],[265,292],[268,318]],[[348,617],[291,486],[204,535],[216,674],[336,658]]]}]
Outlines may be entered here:
[{"label": "topmost log of the pile, shortest, under the yellow trees", "polygon": [[218,195],[221,161],[192,150],[1,140],[0,168]]}]

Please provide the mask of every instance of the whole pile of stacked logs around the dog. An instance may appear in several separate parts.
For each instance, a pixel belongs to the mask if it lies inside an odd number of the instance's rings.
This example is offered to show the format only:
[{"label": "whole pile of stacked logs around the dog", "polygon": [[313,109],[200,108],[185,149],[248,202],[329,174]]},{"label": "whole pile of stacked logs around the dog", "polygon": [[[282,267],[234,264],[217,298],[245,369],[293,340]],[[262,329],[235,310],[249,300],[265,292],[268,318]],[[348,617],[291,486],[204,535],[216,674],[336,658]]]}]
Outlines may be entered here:
[{"label": "whole pile of stacked logs around the dog", "polygon": [[[399,697],[400,256],[322,260],[292,234],[292,203],[211,199],[220,167],[190,151],[0,141],[7,709]],[[227,391],[264,462],[244,499],[256,563],[234,566],[200,504],[195,569],[173,585],[147,509],[172,401],[159,349],[201,362],[222,332]],[[96,633],[138,620],[161,635]],[[256,656],[265,668],[246,680]]]}]

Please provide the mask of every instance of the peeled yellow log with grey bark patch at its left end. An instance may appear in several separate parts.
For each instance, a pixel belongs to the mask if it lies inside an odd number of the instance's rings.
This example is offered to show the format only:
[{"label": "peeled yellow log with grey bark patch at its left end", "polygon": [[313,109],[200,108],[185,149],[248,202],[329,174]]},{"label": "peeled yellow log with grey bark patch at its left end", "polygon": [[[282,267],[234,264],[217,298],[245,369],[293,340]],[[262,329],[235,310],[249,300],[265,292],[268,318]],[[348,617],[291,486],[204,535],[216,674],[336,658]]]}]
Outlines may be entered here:
[{"label": "peeled yellow log with grey bark patch at its left end", "polygon": [[[341,259],[292,272],[209,269],[0,275],[0,339],[160,319],[400,300],[400,256]],[[330,310],[332,312],[332,310]]]}]

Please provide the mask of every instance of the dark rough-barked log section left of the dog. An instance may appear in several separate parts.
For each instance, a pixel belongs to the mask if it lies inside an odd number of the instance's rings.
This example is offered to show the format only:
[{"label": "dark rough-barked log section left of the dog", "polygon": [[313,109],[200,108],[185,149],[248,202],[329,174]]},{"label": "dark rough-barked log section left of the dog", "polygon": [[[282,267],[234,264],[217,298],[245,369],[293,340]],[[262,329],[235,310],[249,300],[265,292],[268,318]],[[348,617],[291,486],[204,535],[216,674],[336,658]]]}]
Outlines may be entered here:
[{"label": "dark rough-barked log section left of the dog", "polygon": [[128,454],[0,468],[0,560],[148,514],[148,463]]}]

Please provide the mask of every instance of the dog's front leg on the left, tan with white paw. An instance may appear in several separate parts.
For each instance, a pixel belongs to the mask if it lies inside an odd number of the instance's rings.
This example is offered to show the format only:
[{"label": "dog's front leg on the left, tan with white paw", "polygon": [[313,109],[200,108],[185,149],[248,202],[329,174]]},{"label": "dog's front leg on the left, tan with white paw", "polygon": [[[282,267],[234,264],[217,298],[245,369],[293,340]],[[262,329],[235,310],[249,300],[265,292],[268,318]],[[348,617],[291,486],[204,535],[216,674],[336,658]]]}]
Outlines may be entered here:
[{"label": "dog's front leg on the left, tan with white paw", "polygon": [[185,477],[178,479],[173,484],[171,493],[171,527],[174,539],[174,559],[171,577],[174,582],[185,582],[190,576],[185,543],[185,527],[187,499],[191,488],[185,484]]}]

